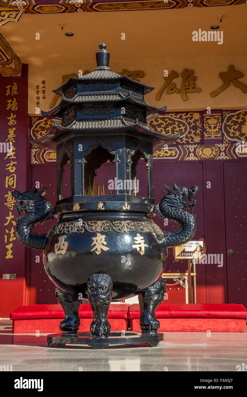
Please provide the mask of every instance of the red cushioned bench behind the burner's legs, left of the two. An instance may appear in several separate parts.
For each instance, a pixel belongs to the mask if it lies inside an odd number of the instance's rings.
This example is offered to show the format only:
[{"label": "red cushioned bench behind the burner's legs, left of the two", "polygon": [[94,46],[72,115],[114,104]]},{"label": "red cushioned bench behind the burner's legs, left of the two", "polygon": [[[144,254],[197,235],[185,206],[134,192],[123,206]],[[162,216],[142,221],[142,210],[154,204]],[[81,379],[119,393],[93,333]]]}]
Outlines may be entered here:
[{"label": "red cushioned bench behind the burner's legs, left of the two", "polygon": [[[110,304],[108,320],[112,331],[128,330],[129,304]],[[93,312],[90,304],[81,304],[79,310],[80,332],[90,332]],[[13,333],[61,332],[59,324],[64,319],[60,304],[31,304],[18,306],[10,318],[13,320]]]}]

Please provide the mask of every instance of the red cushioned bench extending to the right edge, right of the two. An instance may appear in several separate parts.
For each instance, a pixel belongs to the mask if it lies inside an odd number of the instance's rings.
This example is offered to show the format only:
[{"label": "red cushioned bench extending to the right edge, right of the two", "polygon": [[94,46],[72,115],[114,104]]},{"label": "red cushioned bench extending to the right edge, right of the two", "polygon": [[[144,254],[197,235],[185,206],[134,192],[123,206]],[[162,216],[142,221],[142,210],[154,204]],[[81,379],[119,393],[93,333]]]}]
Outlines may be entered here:
[{"label": "red cushioned bench extending to the right edge, right of the two", "polygon": [[[131,331],[140,331],[138,304],[131,304]],[[247,310],[234,303],[161,303],[155,317],[161,332],[246,332]]]}]

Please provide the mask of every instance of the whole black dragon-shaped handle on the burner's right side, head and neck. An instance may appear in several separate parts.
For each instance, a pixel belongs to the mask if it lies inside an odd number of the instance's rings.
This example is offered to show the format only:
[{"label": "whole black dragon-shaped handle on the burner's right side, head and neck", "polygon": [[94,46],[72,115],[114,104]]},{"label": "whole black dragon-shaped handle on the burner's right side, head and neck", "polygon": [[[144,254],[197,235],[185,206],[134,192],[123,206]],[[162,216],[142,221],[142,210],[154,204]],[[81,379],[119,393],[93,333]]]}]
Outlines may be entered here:
[{"label": "whole black dragon-shaped handle on the burner's right side, head and neck", "polygon": [[[198,192],[198,186],[192,186],[191,189],[179,187],[174,183],[174,188],[164,185],[168,194],[159,200],[156,206],[156,213],[162,218],[169,221],[174,220],[181,227],[174,232],[164,231],[164,239],[167,247],[177,247],[190,241],[196,232],[195,215],[193,209],[196,201],[192,197]],[[186,199],[188,198],[188,202]],[[182,208],[191,208],[191,213]]]}]

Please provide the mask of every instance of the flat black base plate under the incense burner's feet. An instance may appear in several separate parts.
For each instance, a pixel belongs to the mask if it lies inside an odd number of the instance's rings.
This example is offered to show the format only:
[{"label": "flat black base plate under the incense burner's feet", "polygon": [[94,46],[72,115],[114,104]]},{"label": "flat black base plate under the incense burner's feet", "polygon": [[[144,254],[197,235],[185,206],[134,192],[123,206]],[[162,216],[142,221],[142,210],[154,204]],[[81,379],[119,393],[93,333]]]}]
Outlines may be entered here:
[{"label": "flat black base plate under the incense burner's feet", "polygon": [[147,343],[151,347],[158,345],[163,341],[164,335],[160,332],[140,333],[126,331],[124,336],[123,332],[111,332],[109,337],[92,337],[91,333],[52,333],[47,336],[47,343],[49,347],[57,344],[71,344],[71,345],[88,345],[93,349],[103,349],[109,345],[136,345]]}]

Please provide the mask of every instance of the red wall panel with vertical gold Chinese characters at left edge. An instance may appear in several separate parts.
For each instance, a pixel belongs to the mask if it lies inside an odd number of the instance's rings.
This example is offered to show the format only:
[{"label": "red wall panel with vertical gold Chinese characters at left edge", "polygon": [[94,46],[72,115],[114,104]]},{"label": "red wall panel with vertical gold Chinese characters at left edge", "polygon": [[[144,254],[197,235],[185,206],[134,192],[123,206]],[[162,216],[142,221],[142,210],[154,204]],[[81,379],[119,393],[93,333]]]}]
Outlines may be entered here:
[{"label": "red wall panel with vertical gold Chinese characters at left edge", "polygon": [[[27,96],[27,65],[21,77],[0,76],[0,317],[27,303],[27,251],[15,236],[17,212],[11,197],[11,191],[27,189]],[[4,280],[3,274],[16,278]]]}]

